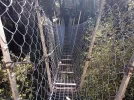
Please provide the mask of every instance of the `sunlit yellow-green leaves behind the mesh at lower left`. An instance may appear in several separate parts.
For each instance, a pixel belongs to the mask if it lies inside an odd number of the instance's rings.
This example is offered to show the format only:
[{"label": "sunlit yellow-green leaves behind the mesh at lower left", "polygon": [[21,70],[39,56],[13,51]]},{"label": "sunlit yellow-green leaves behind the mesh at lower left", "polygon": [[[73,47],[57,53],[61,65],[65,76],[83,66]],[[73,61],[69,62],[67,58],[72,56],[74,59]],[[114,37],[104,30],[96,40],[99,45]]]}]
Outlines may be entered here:
[{"label": "sunlit yellow-green leaves behind the mesh at lower left", "polygon": [[[12,60],[15,58],[12,58]],[[9,79],[8,79],[8,74],[6,69],[3,68],[2,62],[0,63],[0,79],[2,80],[0,82],[0,100],[5,100],[5,99],[11,99],[12,93],[11,93],[11,88],[9,84]],[[16,81],[17,81],[17,87],[20,92],[20,97],[21,99],[26,99],[28,98],[27,96],[32,96],[31,90],[30,90],[30,85],[31,85],[31,80],[30,80],[30,73],[32,72],[32,63],[22,63],[15,64],[13,68],[13,72],[15,72],[16,76]]]}]

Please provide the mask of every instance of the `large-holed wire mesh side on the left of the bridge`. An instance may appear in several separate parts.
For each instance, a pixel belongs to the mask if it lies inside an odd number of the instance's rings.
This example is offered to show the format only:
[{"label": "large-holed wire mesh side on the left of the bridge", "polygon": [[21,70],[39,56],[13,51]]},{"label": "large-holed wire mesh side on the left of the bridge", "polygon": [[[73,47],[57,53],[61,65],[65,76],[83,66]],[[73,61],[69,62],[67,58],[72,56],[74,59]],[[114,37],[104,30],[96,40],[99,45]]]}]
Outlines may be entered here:
[{"label": "large-holed wire mesh side on the left of the bridge", "polygon": [[[52,85],[48,71],[53,82],[60,59],[60,45],[63,45],[57,28],[61,24],[52,23],[34,0],[1,0],[0,18],[0,99],[46,100]],[[41,37],[41,31],[44,37]]]}]

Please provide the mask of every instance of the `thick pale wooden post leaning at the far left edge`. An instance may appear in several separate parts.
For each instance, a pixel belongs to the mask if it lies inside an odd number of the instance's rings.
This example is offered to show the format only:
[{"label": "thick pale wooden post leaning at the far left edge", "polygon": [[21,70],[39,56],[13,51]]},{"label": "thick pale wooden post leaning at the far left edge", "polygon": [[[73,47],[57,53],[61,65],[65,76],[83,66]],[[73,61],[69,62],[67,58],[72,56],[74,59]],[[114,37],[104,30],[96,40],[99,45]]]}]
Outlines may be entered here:
[{"label": "thick pale wooden post leaning at the far left edge", "polygon": [[[8,44],[6,41],[6,36],[4,33],[1,18],[0,18],[0,45],[1,45],[4,62],[5,63],[12,62],[11,58],[10,58]],[[12,65],[14,65],[14,64],[12,64]],[[14,67],[14,66],[10,66],[10,64],[6,64],[5,67],[8,68],[8,67]],[[9,77],[9,81],[10,81],[10,86],[12,89],[13,98],[14,98],[14,100],[19,100],[20,97],[19,97],[19,92],[17,89],[15,73],[10,69],[7,69],[7,73],[8,73],[8,77]]]}]

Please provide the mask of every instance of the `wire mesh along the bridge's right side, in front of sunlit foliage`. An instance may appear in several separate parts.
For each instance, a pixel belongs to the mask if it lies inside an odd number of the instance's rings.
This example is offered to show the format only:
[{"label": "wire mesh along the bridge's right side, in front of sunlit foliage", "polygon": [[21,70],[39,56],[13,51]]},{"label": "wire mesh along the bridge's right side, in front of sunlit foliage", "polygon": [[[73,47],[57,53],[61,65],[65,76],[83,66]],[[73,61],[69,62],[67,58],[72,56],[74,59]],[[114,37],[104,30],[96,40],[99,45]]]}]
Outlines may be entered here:
[{"label": "wire mesh along the bridge's right side, in front of sunlit foliage", "polygon": [[[85,31],[83,33],[82,27],[86,27],[83,24],[79,25],[79,33],[73,53],[77,76],[84,68],[84,63],[90,60],[85,84],[81,91],[83,100],[89,100],[89,98],[93,100],[115,99],[123,74],[126,74],[126,69],[128,70],[126,66],[134,50],[134,42],[132,41],[134,36],[132,28],[133,7],[133,1],[105,1],[91,59],[87,58],[87,54],[93,28],[88,27],[87,33]],[[89,47],[87,47],[88,45]],[[80,67],[81,69],[79,69]],[[78,78],[81,77],[78,76]],[[132,82],[133,78],[129,82],[129,86],[132,86]],[[130,100],[133,99],[133,95],[133,88],[128,87],[123,97],[125,100]]]}]

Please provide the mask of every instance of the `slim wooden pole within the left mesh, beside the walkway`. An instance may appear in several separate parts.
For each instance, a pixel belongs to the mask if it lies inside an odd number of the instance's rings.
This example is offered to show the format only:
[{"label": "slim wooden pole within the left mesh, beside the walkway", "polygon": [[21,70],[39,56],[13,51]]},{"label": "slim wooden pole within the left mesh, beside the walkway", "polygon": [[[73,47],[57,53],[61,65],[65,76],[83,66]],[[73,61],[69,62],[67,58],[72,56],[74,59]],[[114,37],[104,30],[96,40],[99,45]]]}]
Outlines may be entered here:
[{"label": "slim wooden pole within the left mesh, beside the walkway", "polygon": [[[39,7],[38,0],[36,0],[36,8],[38,8],[38,7]],[[46,65],[45,67],[46,67],[47,76],[48,76],[48,84],[49,84],[49,88],[51,91],[52,90],[52,80],[51,80],[51,72],[50,72],[50,68],[49,68],[49,63],[46,59],[47,47],[46,47],[45,37],[44,37],[44,32],[43,32],[43,22],[41,20],[42,18],[41,18],[39,9],[37,9],[36,12],[37,12],[38,27],[39,27],[39,31],[40,31],[39,33],[40,33],[42,47],[43,47],[43,55],[44,55],[45,65]]]}]

